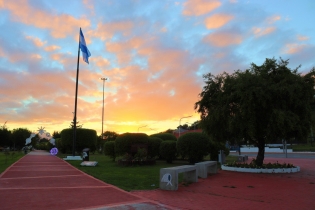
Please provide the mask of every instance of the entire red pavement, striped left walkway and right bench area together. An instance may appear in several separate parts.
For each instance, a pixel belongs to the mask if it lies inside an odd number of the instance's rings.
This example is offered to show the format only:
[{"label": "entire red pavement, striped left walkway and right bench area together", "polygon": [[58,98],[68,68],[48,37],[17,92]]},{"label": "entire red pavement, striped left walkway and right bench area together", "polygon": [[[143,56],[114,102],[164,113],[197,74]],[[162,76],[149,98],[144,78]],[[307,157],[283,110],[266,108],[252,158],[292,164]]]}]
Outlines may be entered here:
[{"label": "entire red pavement, striped left walkway and right bench area together", "polygon": [[315,209],[315,160],[276,160],[301,172],[219,171],[178,191],[129,193],[48,153],[32,152],[0,175],[0,209]]}]

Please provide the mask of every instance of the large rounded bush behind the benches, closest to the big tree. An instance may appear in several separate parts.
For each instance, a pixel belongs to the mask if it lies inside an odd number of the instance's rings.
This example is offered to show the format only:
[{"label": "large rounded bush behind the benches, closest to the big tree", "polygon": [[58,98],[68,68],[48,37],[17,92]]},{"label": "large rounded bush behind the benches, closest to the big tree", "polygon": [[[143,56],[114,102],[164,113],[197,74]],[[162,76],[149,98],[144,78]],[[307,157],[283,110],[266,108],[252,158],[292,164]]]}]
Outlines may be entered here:
[{"label": "large rounded bush behind the benches, closest to the big tree", "polygon": [[177,140],[177,151],[182,157],[188,157],[191,164],[200,162],[209,154],[209,137],[204,133],[191,132]]}]

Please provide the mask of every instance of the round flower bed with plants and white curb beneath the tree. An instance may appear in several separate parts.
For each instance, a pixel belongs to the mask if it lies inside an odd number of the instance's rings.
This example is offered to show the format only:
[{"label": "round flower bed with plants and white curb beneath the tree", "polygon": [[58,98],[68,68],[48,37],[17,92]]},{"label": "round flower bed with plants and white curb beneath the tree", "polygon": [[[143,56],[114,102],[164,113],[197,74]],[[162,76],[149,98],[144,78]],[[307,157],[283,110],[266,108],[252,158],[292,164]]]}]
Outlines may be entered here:
[{"label": "round flower bed with plants and white curb beneath the tree", "polygon": [[299,166],[294,166],[290,163],[280,164],[267,163],[262,166],[257,166],[256,160],[253,159],[250,163],[229,163],[221,166],[222,170],[225,171],[237,171],[237,172],[248,172],[248,173],[295,173],[300,171]]}]

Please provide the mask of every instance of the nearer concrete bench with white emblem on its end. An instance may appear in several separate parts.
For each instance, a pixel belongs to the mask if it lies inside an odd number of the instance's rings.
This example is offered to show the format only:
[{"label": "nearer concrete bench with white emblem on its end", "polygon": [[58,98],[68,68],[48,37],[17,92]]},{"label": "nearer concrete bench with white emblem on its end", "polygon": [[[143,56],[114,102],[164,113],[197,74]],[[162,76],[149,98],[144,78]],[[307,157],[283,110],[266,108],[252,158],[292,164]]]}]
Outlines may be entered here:
[{"label": "nearer concrete bench with white emblem on its end", "polygon": [[162,190],[177,190],[178,189],[178,174],[183,173],[184,181],[198,182],[197,166],[183,165],[170,168],[160,169],[160,189]]}]

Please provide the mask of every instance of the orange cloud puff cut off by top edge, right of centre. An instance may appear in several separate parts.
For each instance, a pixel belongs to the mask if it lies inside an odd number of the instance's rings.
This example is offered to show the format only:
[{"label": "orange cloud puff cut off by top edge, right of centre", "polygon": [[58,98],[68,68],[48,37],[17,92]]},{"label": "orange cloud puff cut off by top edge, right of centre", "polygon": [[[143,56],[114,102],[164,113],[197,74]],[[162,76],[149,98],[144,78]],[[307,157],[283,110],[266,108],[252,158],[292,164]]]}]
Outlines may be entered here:
[{"label": "orange cloud puff cut off by top edge, right of centre", "polygon": [[221,2],[217,0],[188,0],[184,3],[183,15],[200,16],[207,14],[221,6]]}]

